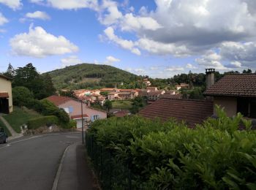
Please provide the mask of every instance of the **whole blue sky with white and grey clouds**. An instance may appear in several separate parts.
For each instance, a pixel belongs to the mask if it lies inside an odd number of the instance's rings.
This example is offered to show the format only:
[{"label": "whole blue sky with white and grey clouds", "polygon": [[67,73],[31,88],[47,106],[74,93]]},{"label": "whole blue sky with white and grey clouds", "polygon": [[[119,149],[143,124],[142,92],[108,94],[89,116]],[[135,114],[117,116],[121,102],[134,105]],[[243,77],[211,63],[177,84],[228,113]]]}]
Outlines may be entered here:
[{"label": "whole blue sky with white and grey clouds", "polygon": [[0,72],[90,63],[136,75],[256,69],[255,0],[0,0]]}]

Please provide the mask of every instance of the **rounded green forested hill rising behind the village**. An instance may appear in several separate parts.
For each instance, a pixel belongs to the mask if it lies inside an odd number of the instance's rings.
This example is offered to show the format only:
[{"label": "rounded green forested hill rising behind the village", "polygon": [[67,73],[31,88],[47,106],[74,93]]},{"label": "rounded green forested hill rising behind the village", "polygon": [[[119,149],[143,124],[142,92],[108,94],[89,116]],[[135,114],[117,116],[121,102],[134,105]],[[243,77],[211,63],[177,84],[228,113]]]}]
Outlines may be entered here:
[{"label": "rounded green forested hill rising behind the village", "polygon": [[121,83],[126,85],[141,80],[141,77],[132,73],[114,66],[100,64],[77,64],[47,73],[52,77],[57,89],[115,87]]}]

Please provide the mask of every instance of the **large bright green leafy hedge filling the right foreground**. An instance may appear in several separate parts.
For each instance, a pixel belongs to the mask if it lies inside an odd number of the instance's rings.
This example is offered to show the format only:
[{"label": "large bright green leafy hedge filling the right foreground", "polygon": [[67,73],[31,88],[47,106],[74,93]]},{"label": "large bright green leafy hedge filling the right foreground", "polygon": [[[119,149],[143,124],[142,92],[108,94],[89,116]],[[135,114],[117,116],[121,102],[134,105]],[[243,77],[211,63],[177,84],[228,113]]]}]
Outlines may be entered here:
[{"label": "large bright green leafy hedge filling the right foreground", "polygon": [[217,107],[217,115],[195,129],[173,119],[108,118],[88,137],[128,165],[141,189],[255,189],[256,132],[241,114],[228,118]]}]

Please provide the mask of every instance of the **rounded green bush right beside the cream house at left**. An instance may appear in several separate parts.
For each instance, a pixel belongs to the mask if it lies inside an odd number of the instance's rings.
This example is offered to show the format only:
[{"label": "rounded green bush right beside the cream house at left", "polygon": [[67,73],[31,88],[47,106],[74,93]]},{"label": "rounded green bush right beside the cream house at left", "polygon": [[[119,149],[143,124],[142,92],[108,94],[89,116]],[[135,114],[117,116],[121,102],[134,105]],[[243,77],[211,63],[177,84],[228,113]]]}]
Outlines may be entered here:
[{"label": "rounded green bush right beside the cream house at left", "polygon": [[28,88],[23,86],[16,86],[12,88],[12,101],[14,105],[26,106],[34,99],[34,95]]}]

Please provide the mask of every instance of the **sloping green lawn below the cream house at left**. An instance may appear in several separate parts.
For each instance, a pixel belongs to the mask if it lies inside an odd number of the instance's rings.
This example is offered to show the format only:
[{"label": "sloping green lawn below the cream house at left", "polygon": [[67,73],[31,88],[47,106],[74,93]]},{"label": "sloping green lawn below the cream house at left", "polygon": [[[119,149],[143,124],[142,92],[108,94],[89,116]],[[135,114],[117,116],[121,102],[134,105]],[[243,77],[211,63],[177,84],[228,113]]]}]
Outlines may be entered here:
[{"label": "sloping green lawn below the cream house at left", "polygon": [[20,133],[20,126],[26,123],[26,121],[29,121],[31,118],[38,118],[41,117],[39,113],[35,112],[34,110],[29,110],[26,107],[14,107],[13,112],[4,115],[4,118],[10,123],[12,126],[12,129],[15,130],[15,132]]}]

